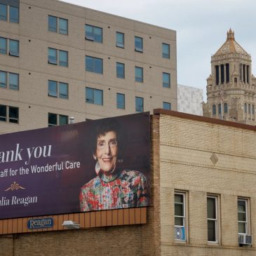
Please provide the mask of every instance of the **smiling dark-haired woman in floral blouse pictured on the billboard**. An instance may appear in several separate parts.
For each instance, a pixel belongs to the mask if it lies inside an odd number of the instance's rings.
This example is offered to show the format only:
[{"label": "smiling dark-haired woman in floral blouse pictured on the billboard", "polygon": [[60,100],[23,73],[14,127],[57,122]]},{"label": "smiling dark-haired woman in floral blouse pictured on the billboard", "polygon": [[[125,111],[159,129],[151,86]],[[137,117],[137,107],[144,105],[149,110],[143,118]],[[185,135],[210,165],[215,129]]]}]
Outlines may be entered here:
[{"label": "smiling dark-haired woman in floral blouse pictured on the billboard", "polygon": [[147,206],[147,183],[137,170],[121,168],[125,146],[118,123],[103,119],[91,140],[96,177],[81,187],[80,208],[107,210]]}]

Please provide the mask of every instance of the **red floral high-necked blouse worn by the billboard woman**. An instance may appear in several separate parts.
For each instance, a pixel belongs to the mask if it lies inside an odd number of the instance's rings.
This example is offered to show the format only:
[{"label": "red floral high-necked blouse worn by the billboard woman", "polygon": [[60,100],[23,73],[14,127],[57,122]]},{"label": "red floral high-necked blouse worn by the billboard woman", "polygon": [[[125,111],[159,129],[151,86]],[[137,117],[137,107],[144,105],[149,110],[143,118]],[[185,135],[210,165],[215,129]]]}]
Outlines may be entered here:
[{"label": "red floral high-necked blouse worn by the billboard woman", "polygon": [[107,210],[147,206],[146,178],[136,170],[121,170],[97,177],[81,187],[80,208]]}]

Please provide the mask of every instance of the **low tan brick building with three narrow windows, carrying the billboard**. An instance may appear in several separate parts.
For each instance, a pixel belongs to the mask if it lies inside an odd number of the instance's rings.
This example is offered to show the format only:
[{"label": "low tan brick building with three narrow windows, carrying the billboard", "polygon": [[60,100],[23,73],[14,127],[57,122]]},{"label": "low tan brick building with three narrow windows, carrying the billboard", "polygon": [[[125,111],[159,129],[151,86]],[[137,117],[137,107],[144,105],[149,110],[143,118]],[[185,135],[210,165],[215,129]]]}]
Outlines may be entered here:
[{"label": "low tan brick building with three narrow windows, carrying the billboard", "polygon": [[0,255],[253,256],[255,145],[254,126],[156,109],[151,206],[54,215],[49,229],[0,220]]}]

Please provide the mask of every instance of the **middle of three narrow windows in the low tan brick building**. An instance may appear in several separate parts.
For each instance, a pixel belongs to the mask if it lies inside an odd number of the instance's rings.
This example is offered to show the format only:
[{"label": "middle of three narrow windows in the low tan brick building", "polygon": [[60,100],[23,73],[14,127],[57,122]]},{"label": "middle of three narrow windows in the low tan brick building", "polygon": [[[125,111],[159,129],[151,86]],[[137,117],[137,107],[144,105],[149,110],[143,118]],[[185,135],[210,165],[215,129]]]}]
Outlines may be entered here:
[{"label": "middle of three narrow windows in the low tan brick building", "polygon": [[208,242],[217,242],[217,196],[207,196]]}]

